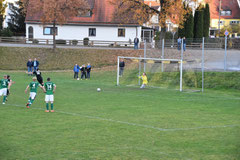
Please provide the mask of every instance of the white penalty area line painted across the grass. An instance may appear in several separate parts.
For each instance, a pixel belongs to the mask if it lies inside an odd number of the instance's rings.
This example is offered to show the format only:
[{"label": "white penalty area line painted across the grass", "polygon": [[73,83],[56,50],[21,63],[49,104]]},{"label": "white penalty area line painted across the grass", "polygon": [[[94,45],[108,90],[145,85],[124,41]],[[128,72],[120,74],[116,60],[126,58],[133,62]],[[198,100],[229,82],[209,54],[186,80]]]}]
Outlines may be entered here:
[{"label": "white penalty area line painted across the grass", "polygon": [[[15,104],[5,104],[8,106],[15,106],[15,107],[22,107],[25,108],[22,105],[15,105]],[[31,109],[36,109],[36,110],[43,110],[41,108],[31,108]],[[64,111],[55,111],[57,113],[62,113],[66,115],[72,115],[72,116],[78,116],[78,117],[85,117],[89,119],[97,119],[101,121],[108,121],[108,122],[113,122],[113,123],[120,123],[120,124],[126,124],[130,126],[137,126],[137,127],[142,127],[142,128],[149,128],[149,129],[154,129],[158,131],[164,131],[164,132],[171,132],[171,131],[190,131],[190,130],[199,130],[199,129],[215,129],[215,128],[234,128],[234,127],[240,127],[240,125],[223,125],[223,126],[202,126],[202,127],[192,127],[192,128],[159,128],[159,127],[154,127],[150,125],[144,125],[144,124],[137,124],[137,123],[131,123],[131,122],[125,122],[125,121],[118,121],[118,120],[113,120],[113,119],[107,119],[107,118],[101,118],[101,117],[96,117],[96,116],[89,116],[89,115],[82,115],[78,113],[70,113],[70,112],[64,112]]]}]

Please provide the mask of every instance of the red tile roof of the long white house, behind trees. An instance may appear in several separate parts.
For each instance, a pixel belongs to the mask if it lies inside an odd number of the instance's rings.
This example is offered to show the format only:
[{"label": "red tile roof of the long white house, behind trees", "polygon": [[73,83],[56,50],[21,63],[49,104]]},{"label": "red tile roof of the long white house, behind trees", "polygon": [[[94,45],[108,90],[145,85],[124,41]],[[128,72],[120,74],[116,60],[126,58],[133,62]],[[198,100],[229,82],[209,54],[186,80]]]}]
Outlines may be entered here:
[{"label": "red tile roof of the long white house, behind trees", "polygon": [[[92,16],[69,17],[67,24],[122,24],[113,20],[115,6],[110,4],[111,1],[113,0],[88,0],[88,3],[92,8]],[[27,14],[26,22],[39,22],[41,19],[40,17],[41,13],[36,13],[33,16]],[[131,23],[128,25],[137,25],[137,23]]]}]

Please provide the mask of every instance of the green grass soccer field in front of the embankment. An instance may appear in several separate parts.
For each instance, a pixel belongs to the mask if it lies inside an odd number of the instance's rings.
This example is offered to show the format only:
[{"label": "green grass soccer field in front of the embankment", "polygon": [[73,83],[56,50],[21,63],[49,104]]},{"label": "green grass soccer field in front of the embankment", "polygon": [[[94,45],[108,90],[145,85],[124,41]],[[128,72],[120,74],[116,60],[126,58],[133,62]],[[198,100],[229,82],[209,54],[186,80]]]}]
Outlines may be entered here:
[{"label": "green grass soccer field in front of the embankment", "polygon": [[[55,113],[44,93],[27,109],[31,78],[16,84],[0,104],[0,159],[240,159],[240,93],[115,86],[115,72],[73,80],[71,72],[45,72],[57,85]],[[101,88],[101,92],[97,92]],[[1,97],[2,101],[2,97]]]}]

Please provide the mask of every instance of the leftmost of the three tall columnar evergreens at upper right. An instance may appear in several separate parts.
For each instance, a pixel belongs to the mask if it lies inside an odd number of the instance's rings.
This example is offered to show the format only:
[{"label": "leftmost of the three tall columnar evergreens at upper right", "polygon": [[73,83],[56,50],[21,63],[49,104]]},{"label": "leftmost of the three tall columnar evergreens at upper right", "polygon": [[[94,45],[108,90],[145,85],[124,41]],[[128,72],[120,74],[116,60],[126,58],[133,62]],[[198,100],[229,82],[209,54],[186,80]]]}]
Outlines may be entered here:
[{"label": "leftmost of the three tall columnar evergreens at upper right", "polygon": [[185,22],[185,37],[186,38],[193,38],[193,28],[194,28],[194,19],[192,10],[188,7],[189,12],[186,15],[186,22]]}]

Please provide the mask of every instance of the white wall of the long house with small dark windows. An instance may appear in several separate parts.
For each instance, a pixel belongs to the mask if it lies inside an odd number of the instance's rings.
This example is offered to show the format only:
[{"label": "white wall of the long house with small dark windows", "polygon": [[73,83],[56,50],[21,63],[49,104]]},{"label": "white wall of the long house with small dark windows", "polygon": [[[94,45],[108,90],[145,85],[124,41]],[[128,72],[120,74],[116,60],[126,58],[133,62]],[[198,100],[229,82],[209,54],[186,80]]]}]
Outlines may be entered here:
[{"label": "white wall of the long house with small dark windows", "polygon": [[[26,37],[28,38],[28,27],[33,27],[34,39],[52,39],[52,35],[43,35],[43,26],[37,24],[26,25]],[[48,27],[48,26],[45,26]],[[52,27],[52,26],[49,26]],[[109,26],[57,26],[58,35],[56,39],[65,40],[83,40],[89,38],[90,40],[100,41],[129,41],[138,35],[141,37],[141,27],[109,27]],[[96,37],[89,37],[89,28],[96,28]],[[125,37],[118,37],[118,28],[125,28]]]}]

